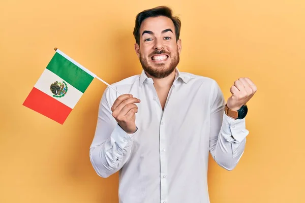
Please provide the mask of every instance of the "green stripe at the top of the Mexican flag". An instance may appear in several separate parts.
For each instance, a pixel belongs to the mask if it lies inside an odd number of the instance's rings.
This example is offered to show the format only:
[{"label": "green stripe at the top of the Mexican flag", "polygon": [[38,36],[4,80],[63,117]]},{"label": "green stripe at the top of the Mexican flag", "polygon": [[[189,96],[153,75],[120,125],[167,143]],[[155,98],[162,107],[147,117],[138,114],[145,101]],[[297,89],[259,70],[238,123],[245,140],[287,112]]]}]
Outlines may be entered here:
[{"label": "green stripe at the top of the Mexican flag", "polygon": [[94,77],[57,52],[49,62],[47,69],[83,93],[94,79]]}]

